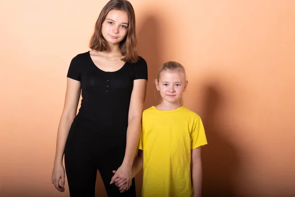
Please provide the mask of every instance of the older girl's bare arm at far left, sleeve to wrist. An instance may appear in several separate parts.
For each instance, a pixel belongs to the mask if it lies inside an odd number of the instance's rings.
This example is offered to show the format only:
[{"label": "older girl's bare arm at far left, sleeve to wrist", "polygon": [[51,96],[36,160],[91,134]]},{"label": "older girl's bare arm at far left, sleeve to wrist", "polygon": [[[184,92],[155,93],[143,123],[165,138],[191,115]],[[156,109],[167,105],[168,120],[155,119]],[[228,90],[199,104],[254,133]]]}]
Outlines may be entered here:
[{"label": "older girl's bare arm at far left, sleeve to wrist", "polygon": [[57,136],[56,155],[54,164],[62,164],[64,146],[71,124],[76,116],[78,102],[81,93],[81,83],[71,78],[67,78],[67,87],[64,100],[63,111],[59,121]]}]

